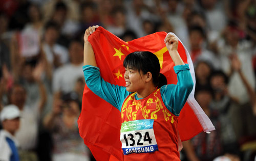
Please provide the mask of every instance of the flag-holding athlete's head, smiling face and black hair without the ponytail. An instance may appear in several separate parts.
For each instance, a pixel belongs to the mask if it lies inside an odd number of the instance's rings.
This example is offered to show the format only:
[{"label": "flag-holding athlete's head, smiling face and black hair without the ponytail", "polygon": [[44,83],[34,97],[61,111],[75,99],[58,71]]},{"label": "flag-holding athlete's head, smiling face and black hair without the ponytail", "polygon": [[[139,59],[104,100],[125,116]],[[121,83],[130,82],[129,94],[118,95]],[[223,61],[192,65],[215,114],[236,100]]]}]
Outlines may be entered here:
[{"label": "flag-holding athlete's head, smiling face and black hair without the ponytail", "polygon": [[123,66],[127,91],[137,92],[138,97],[144,98],[158,86],[160,64],[154,53],[132,52],[125,57]]}]

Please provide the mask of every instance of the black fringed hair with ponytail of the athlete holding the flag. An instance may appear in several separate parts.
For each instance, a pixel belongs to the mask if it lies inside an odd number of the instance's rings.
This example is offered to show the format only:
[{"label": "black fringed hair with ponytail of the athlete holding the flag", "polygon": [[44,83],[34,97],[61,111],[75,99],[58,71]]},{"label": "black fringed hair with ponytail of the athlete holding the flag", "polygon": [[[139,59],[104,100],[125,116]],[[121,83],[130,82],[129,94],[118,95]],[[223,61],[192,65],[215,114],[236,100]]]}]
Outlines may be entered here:
[{"label": "black fringed hair with ponytail of the athlete holding the flag", "polygon": [[164,78],[165,76],[163,74],[160,76],[160,64],[157,56],[150,51],[135,51],[130,53],[125,57],[123,66],[142,71],[143,74],[151,72],[155,87],[160,88],[167,84],[167,80]]}]

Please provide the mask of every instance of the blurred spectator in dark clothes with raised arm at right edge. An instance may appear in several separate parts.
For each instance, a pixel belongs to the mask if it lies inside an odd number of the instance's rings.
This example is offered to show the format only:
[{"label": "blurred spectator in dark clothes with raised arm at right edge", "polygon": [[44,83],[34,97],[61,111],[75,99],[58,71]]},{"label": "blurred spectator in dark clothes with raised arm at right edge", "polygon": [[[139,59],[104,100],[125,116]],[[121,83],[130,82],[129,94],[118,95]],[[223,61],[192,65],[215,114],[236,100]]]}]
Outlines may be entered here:
[{"label": "blurred spectator in dark clothes with raised arm at right edge", "polygon": [[248,146],[255,145],[256,142],[256,93],[254,89],[250,86],[245,74],[243,73],[242,64],[238,56],[233,55],[231,58],[231,68],[234,72],[237,72],[240,76],[246,92],[250,98],[248,103],[242,104],[239,108],[232,114],[232,123],[236,131],[237,137],[240,142],[240,148],[242,149],[243,160],[250,160],[255,157],[256,149]]}]

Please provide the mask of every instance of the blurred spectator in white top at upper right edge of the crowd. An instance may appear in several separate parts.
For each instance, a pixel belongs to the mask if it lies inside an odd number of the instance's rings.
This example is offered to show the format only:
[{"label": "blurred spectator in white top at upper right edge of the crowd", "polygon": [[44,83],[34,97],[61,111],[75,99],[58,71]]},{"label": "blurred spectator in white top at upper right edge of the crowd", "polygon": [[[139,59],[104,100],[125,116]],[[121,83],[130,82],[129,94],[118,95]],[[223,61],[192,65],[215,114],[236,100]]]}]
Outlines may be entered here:
[{"label": "blurred spectator in white top at upper right edge of the crowd", "polygon": [[240,31],[235,23],[226,26],[223,32],[223,39],[218,40],[218,51],[221,60],[222,70],[230,76],[228,91],[233,99],[244,104],[249,101],[246,88],[239,76],[239,73],[231,68],[230,59],[235,55],[241,61],[241,70],[245,74],[250,86],[255,88],[255,75],[252,67],[252,56],[255,46],[247,40],[240,38]]}]

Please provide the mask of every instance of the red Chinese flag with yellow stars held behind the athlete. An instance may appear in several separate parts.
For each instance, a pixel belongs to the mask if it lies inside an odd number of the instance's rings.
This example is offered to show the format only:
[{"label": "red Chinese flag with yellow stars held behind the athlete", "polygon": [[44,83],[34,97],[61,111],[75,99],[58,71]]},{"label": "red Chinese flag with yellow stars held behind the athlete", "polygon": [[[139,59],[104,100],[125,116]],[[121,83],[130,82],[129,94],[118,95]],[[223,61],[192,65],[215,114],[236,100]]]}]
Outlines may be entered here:
[{"label": "red Chinese flag with yellow stars held behind the athlete", "polygon": [[[125,69],[122,63],[125,56],[134,51],[155,53],[160,62],[160,72],[166,76],[168,84],[177,84],[177,75],[173,69],[174,63],[164,43],[166,35],[165,32],[157,32],[124,42],[99,27],[89,36],[88,40],[93,46],[102,78],[111,84],[125,86],[123,78]],[[194,67],[181,41],[179,41],[178,52],[184,63],[189,64],[195,86]],[[208,132],[215,129],[195,100],[194,92],[195,87],[178,117],[181,141],[189,140],[201,131]],[[95,95],[87,86],[83,91],[82,111],[78,126],[80,136],[96,160],[122,160],[121,142],[119,141],[120,112],[110,103]]]}]

